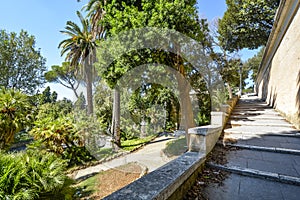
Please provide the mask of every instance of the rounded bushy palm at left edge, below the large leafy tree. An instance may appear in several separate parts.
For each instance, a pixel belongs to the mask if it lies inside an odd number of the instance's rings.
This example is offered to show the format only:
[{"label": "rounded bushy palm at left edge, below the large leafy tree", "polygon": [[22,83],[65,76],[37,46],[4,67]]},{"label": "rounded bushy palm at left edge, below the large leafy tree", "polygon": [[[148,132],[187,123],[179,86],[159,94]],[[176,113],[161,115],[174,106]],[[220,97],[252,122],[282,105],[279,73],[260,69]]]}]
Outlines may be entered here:
[{"label": "rounded bushy palm at left edge, below the large leafy tree", "polygon": [[32,121],[27,95],[12,89],[0,89],[0,149],[7,148],[19,131]]}]

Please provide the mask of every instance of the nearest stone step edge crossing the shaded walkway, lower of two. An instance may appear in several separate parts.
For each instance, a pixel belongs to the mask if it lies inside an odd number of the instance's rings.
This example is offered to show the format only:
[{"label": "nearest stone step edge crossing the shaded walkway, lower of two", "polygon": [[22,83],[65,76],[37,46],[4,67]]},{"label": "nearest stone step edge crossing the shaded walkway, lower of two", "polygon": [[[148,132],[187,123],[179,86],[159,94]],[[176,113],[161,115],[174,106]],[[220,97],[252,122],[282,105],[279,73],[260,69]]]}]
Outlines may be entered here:
[{"label": "nearest stone step edge crossing the shaded walkway, lower of two", "polygon": [[213,163],[207,163],[208,166],[244,175],[244,176],[252,176],[256,178],[264,178],[264,179],[269,179],[281,183],[287,183],[287,184],[293,184],[293,185],[299,185],[300,186],[300,178],[298,177],[293,177],[293,176],[287,176],[287,175],[282,175],[278,173],[273,173],[273,172],[266,172],[266,171],[260,171],[256,169],[250,169],[250,168],[242,168],[242,167],[237,167],[237,166],[223,166],[223,165],[218,165],[218,164],[213,164]]}]

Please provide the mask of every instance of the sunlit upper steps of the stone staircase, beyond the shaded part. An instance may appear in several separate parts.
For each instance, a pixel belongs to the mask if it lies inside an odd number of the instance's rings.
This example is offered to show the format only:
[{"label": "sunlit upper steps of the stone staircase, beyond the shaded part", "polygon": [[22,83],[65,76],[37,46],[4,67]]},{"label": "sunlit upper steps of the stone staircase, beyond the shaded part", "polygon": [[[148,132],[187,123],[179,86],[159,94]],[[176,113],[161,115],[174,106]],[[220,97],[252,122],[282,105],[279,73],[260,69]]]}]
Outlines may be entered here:
[{"label": "sunlit upper steps of the stone staircase, beyond the shaded part", "polygon": [[224,138],[247,140],[260,135],[299,133],[278,112],[256,97],[240,99],[224,130]]}]

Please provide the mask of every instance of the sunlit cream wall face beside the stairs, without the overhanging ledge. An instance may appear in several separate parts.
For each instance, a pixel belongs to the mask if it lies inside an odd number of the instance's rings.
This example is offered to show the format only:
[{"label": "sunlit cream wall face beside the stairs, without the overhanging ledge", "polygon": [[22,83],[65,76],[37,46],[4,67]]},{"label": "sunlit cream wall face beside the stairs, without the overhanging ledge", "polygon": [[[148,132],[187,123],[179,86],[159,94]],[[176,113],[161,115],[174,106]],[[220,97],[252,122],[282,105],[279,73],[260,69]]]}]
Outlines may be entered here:
[{"label": "sunlit cream wall face beside the stairs, without the overhanging ledge", "polygon": [[258,82],[258,95],[300,128],[299,9]]}]

